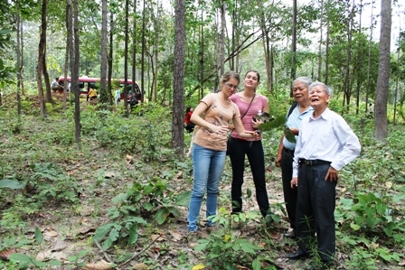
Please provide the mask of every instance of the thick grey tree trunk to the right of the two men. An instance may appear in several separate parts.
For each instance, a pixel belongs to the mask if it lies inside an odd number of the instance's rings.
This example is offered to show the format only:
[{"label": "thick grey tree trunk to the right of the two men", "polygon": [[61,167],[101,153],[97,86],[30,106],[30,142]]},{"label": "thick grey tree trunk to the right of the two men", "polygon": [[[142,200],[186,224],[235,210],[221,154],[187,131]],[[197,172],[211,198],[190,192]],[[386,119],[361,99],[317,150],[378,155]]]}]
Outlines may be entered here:
[{"label": "thick grey tree trunk to the right of the two men", "polygon": [[375,97],[375,137],[383,141],[388,135],[387,101],[390,82],[391,0],[381,0],[380,57]]}]

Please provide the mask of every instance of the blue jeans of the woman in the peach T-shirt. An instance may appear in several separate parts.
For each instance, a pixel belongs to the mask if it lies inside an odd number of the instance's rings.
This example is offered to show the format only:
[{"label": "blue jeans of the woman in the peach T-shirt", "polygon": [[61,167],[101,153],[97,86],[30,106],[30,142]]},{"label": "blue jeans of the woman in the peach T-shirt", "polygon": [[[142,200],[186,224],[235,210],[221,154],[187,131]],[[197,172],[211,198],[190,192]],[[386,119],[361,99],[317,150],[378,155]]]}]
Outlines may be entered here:
[{"label": "blue jeans of the woman in the peach T-shirt", "polygon": [[[194,144],[192,154],[194,182],[187,215],[187,228],[189,231],[196,231],[205,191],[207,191],[206,217],[216,214],[218,185],[225,167],[226,151],[216,151]],[[209,219],[207,226],[212,226],[212,221]]]}]

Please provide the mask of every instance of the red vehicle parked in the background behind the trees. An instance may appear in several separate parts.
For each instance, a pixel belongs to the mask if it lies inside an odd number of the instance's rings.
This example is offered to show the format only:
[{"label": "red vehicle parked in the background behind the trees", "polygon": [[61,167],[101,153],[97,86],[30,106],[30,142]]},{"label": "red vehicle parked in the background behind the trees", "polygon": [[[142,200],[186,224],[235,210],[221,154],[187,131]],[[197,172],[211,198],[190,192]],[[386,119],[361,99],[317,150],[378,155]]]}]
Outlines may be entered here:
[{"label": "red vehicle parked in the background behind the trees", "polygon": [[[64,83],[64,78],[59,78],[58,83],[63,86]],[[71,82],[71,77],[67,77],[66,80],[68,83]],[[90,78],[90,77],[79,77],[79,88],[80,88],[80,96],[85,96],[87,97],[89,95],[89,88],[95,88],[97,91],[99,89],[99,78]],[[119,83],[119,88],[121,89],[121,99],[124,98],[124,86],[125,86],[125,80],[124,79],[113,79],[113,89],[115,90],[116,83]],[[70,85],[68,84],[68,91]],[[137,98],[138,101],[142,99],[142,91],[141,88],[139,88],[139,85],[137,84],[137,81],[135,82],[135,89],[132,89],[132,79],[127,79],[127,89],[128,89],[128,95],[127,95],[127,100],[129,100],[130,96],[132,93],[135,93],[135,97]]]}]

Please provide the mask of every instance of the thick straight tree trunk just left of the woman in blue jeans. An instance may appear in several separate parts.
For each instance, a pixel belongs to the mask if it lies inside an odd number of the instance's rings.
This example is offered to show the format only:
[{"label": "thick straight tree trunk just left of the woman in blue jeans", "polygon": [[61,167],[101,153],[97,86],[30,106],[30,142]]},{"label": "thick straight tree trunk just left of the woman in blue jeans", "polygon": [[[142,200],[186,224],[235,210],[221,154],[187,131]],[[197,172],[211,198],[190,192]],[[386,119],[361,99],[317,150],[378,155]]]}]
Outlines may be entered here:
[{"label": "thick straight tree trunk just left of the woman in blue jeans", "polygon": [[175,153],[184,153],[184,44],[185,1],[175,0],[174,7],[174,102],[172,147]]}]

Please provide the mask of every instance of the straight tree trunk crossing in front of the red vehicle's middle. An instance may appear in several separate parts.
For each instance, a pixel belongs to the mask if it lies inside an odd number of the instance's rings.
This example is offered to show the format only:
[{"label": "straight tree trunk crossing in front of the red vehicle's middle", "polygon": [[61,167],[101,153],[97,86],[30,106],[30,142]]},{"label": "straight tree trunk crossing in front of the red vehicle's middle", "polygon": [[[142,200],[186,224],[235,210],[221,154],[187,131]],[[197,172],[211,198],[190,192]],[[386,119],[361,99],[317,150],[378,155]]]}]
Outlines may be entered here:
[{"label": "straight tree trunk crossing in front of the red vehicle's middle", "polygon": [[101,65],[99,82],[99,101],[103,109],[107,109],[107,0],[102,0],[101,4]]}]

